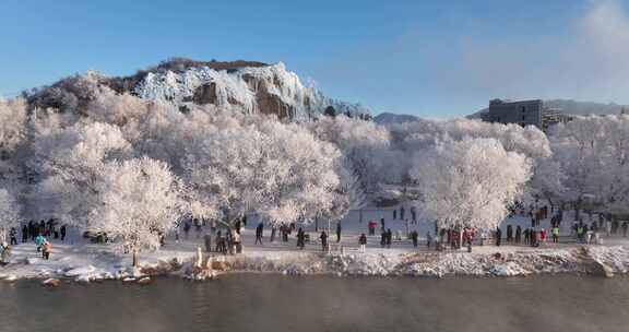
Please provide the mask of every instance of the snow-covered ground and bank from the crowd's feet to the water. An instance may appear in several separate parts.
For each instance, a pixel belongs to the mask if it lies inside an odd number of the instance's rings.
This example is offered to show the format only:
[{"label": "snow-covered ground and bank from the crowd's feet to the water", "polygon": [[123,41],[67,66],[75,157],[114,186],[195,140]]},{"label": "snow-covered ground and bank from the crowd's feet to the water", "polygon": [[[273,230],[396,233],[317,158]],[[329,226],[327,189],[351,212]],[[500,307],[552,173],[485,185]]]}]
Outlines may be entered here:
[{"label": "snow-covered ground and bank from the crowd's feet to the water", "polygon": [[[387,215],[387,213],[389,215]],[[346,275],[525,275],[532,273],[555,272],[607,272],[626,273],[629,270],[629,241],[620,236],[605,239],[604,246],[579,245],[569,236],[570,222],[562,224],[562,238],[560,244],[546,244],[542,248],[532,248],[524,245],[495,247],[494,245],[475,246],[473,253],[461,251],[436,252],[426,248],[422,240],[419,248],[413,248],[410,240],[403,236],[402,240],[395,239],[391,249],[380,248],[380,237],[368,237],[367,251],[358,251],[358,236],[367,234],[367,223],[375,218],[378,223],[381,211],[365,211],[363,222],[358,218],[358,212],[351,214],[343,221],[343,236],[340,244],[335,239],[335,225],[332,225],[332,235],[329,241],[332,253],[324,254],[318,240],[314,225],[306,227],[310,233],[311,242],[305,250],[296,248],[295,233],[287,244],[280,241],[280,235],[275,242],[270,244],[271,229],[264,229],[264,245],[253,245],[254,227],[257,223],[250,218],[247,227],[242,230],[245,251],[242,254],[223,258],[216,254],[214,260],[225,260],[229,271],[248,272],[277,272],[286,274],[314,274],[335,273]],[[405,233],[404,221],[391,220],[391,211],[384,212],[387,228]],[[527,217],[514,217],[502,223],[530,225]],[[543,227],[548,227],[549,222],[542,222]],[[327,228],[327,223],[321,223],[321,228]],[[420,235],[434,229],[432,224],[411,224],[411,230],[417,229]],[[143,266],[168,266],[173,259],[178,262],[192,261],[197,248],[202,247],[203,229],[197,233],[194,228],[187,239],[181,234],[181,240],[176,242],[173,237],[162,250],[156,252],[143,252],[140,262]],[[505,234],[505,233],[503,233]],[[117,254],[110,246],[90,244],[79,236],[78,232],[71,233],[67,241],[51,240],[54,252],[50,260],[43,260],[36,252],[33,242],[20,244],[14,247],[12,262],[0,268],[0,278],[15,280],[22,277],[68,277],[76,281],[94,281],[104,278],[123,280],[133,276],[129,269],[131,257]],[[505,242],[505,241],[503,241]],[[213,244],[214,245],[214,244]],[[343,252],[341,252],[343,247]],[[496,253],[500,253],[497,256]],[[214,254],[214,253],[212,253]],[[601,268],[603,264],[605,268]],[[603,270],[602,270],[603,269]]]}]

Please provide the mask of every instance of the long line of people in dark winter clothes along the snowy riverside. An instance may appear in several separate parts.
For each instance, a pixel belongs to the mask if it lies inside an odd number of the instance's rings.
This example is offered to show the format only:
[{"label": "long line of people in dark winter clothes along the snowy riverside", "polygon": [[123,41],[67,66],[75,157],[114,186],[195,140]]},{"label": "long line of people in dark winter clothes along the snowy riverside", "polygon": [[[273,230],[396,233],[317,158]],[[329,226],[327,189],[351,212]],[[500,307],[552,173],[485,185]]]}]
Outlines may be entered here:
[{"label": "long line of people in dark winter clothes along the snowy riverside", "polygon": [[[404,206],[400,209],[394,209],[393,221],[403,221],[408,226],[408,220],[405,218],[406,210]],[[415,210],[410,209],[411,223],[417,223],[417,214]],[[486,229],[476,229],[473,227],[439,227],[439,223],[435,222],[434,233],[426,232],[425,234],[425,245],[427,248],[434,248],[435,250],[447,250],[447,249],[461,249],[467,247],[471,251],[472,245],[485,245],[488,239],[492,239],[495,246],[501,246],[503,241],[510,246],[531,246],[541,247],[545,246],[548,241],[553,244],[558,244],[560,239],[560,226],[563,221],[563,212],[561,210],[555,211],[554,209],[548,209],[543,206],[539,209],[530,208],[522,209],[515,206],[511,210],[511,216],[520,214],[521,216],[531,217],[531,225],[523,226],[522,223],[508,224],[505,228],[498,227],[494,232],[488,232]],[[542,221],[548,220],[549,214],[549,227],[542,226]],[[194,230],[195,238],[201,239],[207,252],[217,252],[223,254],[236,254],[242,252],[242,236],[241,230],[247,225],[247,217],[237,220],[233,225],[217,222],[217,221],[205,221],[199,218],[189,218],[183,221],[177,230],[175,232],[175,239],[178,242],[180,240],[181,230],[183,233],[185,239],[190,239],[190,233]],[[400,224],[397,224],[399,226]],[[388,225],[388,221],[382,217],[380,222],[376,220],[369,220],[366,224],[367,232],[359,232],[356,241],[358,244],[359,252],[365,252],[369,242],[369,237],[373,238],[375,246],[380,248],[391,248],[394,244],[394,239],[402,247],[407,247],[412,245],[413,248],[418,248],[419,246],[419,233],[417,229],[410,229],[406,227],[406,233],[403,236],[401,230],[395,233]],[[378,227],[379,226],[379,227]],[[389,227],[388,227],[389,226]],[[395,226],[395,225],[394,225]],[[256,239],[254,246],[264,246],[264,227],[265,224],[260,222],[254,228]],[[297,227],[295,223],[280,223],[269,225],[271,227],[271,234],[269,241],[275,242],[278,238],[282,244],[289,242],[289,238],[295,234],[296,245],[298,249],[305,249],[306,244],[312,242],[312,239],[319,240],[320,248],[322,251],[330,251],[329,242],[329,230],[317,232],[317,236],[312,237],[311,233],[307,233],[304,228]],[[379,235],[377,230],[379,228]],[[399,228],[399,227],[397,227]],[[567,229],[567,227],[565,227]],[[341,222],[335,223],[335,242],[337,248],[343,248],[345,242],[342,242],[343,225]],[[582,218],[573,222],[570,227],[570,235],[563,234],[562,236],[568,238],[568,241],[577,241],[581,244],[601,244],[601,234],[605,233],[607,236],[621,234],[622,237],[627,237],[629,233],[628,222],[618,222],[615,220],[603,221],[591,221],[590,223],[583,222]],[[55,220],[35,222],[31,221],[23,224],[22,227],[12,227],[8,232],[9,242],[0,244],[0,264],[7,264],[10,261],[12,249],[20,242],[32,241],[36,246],[37,252],[41,253],[43,259],[49,259],[52,252],[52,239],[64,241],[67,237],[67,226],[59,225]],[[379,238],[379,241],[378,241]],[[165,236],[161,235],[161,242],[164,245]]]}]

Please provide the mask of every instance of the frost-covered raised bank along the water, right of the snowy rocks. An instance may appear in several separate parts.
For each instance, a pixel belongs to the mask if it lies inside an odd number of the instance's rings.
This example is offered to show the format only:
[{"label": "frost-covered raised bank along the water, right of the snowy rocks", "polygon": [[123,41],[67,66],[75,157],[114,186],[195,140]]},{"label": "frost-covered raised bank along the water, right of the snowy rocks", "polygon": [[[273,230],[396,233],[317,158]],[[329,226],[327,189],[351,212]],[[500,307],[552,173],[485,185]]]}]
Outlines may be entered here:
[{"label": "frost-covered raised bank along the water, right of the snowy rocks", "polygon": [[522,252],[253,253],[221,257],[222,273],[348,276],[524,276],[585,273],[610,276],[629,271],[625,247],[573,247]]}]

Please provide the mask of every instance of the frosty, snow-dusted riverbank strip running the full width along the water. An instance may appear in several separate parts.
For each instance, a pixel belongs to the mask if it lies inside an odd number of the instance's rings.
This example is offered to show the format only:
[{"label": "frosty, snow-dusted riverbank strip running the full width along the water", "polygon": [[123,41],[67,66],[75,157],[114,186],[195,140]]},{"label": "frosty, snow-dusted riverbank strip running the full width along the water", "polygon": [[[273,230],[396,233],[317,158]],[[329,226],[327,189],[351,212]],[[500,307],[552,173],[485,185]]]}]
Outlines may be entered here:
[{"label": "frosty, snow-dusted riverbank strip running the full width along the water", "polygon": [[[58,246],[61,247],[61,246]],[[142,256],[139,269],[131,269],[128,257],[108,251],[105,246],[69,245],[57,259],[19,256],[0,268],[0,280],[68,280],[95,282],[120,280],[147,282],[150,277],[177,275],[207,280],[234,273],[276,273],[285,275],[339,276],[525,276],[532,274],[593,274],[613,276],[629,271],[629,249],[625,246],[563,246],[530,248],[484,246],[474,252],[435,252],[407,249],[371,249],[366,253],[323,253],[296,250],[247,249],[241,254],[202,254],[193,249],[161,250]],[[35,250],[31,245],[20,250]]]}]

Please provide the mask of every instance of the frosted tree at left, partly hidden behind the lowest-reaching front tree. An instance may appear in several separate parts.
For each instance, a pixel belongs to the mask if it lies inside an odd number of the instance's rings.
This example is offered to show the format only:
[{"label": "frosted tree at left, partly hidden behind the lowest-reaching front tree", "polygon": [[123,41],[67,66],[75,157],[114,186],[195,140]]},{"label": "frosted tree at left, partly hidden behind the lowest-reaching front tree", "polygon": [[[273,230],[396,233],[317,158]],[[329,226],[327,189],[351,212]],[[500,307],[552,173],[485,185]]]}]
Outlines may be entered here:
[{"label": "frosted tree at left, partly hidden behind the lowest-reaching front tree", "polygon": [[33,193],[33,212],[84,226],[98,202],[105,163],[124,157],[131,146],[118,127],[78,122],[38,137],[33,168],[44,178]]}]

